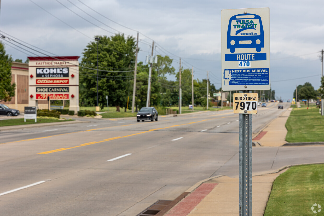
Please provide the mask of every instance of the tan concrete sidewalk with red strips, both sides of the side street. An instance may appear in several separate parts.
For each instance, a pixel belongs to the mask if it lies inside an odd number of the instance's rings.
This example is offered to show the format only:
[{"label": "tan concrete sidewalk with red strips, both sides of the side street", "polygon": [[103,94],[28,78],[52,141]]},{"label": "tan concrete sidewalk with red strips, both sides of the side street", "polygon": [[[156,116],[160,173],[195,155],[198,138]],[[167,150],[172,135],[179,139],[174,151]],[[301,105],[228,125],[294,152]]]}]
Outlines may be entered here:
[{"label": "tan concrete sidewalk with red strips, both sides of the side street", "polygon": [[[266,125],[253,142],[257,142],[256,146],[281,146],[286,143],[285,137],[287,130],[285,123],[290,115],[292,108],[285,110],[279,118],[272,120]],[[255,148],[255,147],[253,147]],[[260,148],[260,147],[259,147]],[[237,164],[238,166],[238,164]],[[275,173],[252,176],[252,215],[262,216],[266,208],[268,198],[272,189],[272,183],[277,176],[285,172],[277,170]],[[252,174],[253,175],[253,174]],[[196,190],[200,188],[212,187],[205,193],[205,196],[194,195]],[[190,194],[171,210],[165,216],[237,216],[238,215],[238,196],[239,196],[239,179],[228,176],[212,177],[205,179],[195,186],[188,189],[186,192]],[[195,202],[193,198],[197,197]]]}]

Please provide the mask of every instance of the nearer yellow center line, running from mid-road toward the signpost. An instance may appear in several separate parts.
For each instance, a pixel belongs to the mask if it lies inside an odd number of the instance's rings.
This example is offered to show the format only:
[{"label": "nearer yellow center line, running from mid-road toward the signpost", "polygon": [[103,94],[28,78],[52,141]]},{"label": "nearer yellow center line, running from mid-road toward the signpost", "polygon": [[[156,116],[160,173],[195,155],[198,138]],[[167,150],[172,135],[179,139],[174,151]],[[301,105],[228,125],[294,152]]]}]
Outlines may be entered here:
[{"label": "nearer yellow center line, running from mid-road toward the signpost", "polygon": [[143,133],[147,133],[147,132],[151,132],[151,131],[162,130],[162,129],[167,129],[167,128],[173,128],[173,127],[178,127],[178,126],[188,125],[188,124],[194,124],[194,123],[199,123],[199,122],[208,121],[208,120],[213,120],[213,119],[204,119],[204,120],[201,120],[201,121],[195,121],[195,122],[190,122],[190,123],[186,123],[186,124],[177,124],[177,125],[172,125],[172,126],[168,126],[168,127],[164,127],[164,128],[155,128],[155,129],[151,129],[151,130],[148,130],[148,131],[143,131],[143,132],[139,132],[139,133],[133,133],[133,134],[126,135],[126,136],[112,137],[112,138],[104,139],[104,140],[101,140],[101,141],[98,141],[98,142],[87,142],[87,143],[83,143],[81,145],[73,146],[73,147],[70,147],[70,148],[60,148],[60,149],[55,149],[55,150],[52,150],[52,151],[41,152],[41,153],[38,153],[38,154],[49,154],[49,153],[54,153],[54,152],[60,152],[60,151],[68,150],[68,149],[73,149],[73,148],[86,146],[86,145],[92,145],[92,144],[96,144],[96,143],[100,143],[100,142],[107,142],[107,141],[111,141],[111,140],[117,140],[117,139],[130,137],[130,136],[135,136],[135,135],[138,135],[138,134],[143,134]]}]

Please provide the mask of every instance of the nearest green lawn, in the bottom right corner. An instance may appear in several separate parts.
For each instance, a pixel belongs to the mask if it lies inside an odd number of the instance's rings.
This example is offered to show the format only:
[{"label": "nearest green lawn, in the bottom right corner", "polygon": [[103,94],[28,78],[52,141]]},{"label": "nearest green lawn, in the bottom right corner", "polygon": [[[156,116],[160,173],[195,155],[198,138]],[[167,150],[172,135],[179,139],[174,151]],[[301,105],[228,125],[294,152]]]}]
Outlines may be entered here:
[{"label": "nearest green lawn, in the bottom right corner", "polygon": [[275,179],[264,216],[323,214],[311,210],[314,203],[324,205],[323,182],[324,164],[290,167]]}]

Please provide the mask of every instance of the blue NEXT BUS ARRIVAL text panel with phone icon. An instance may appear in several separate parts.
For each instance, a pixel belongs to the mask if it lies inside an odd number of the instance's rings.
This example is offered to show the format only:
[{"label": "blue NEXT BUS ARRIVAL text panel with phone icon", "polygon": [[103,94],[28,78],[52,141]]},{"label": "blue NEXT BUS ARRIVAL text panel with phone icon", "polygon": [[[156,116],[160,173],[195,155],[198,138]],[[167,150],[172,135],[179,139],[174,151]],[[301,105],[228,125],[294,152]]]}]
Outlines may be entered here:
[{"label": "blue NEXT BUS ARRIVAL text panel with phone icon", "polygon": [[225,69],[225,85],[269,85],[269,68]]}]

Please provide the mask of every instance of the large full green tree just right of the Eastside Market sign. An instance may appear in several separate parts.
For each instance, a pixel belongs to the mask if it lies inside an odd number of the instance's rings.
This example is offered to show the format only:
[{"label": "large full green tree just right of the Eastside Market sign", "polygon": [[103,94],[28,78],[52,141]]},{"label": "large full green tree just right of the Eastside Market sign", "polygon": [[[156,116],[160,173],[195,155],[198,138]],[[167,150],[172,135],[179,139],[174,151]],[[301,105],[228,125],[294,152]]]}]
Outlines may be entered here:
[{"label": "large full green tree just right of the Eastside Market sign", "polygon": [[[130,80],[133,79],[135,40],[132,36],[127,38],[123,34],[111,37],[96,36],[98,42],[98,101],[103,108],[108,96],[111,106],[120,111],[120,107],[127,104],[127,96]],[[97,104],[97,41],[88,43],[84,49],[83,58],[80,63],[80,104],[83,106],[94,106]],[[87,67],[87,68],[84,68]],[[88,69],[92,68],[92,69]],[[110,71],[110,72],[109,72]]]}]

